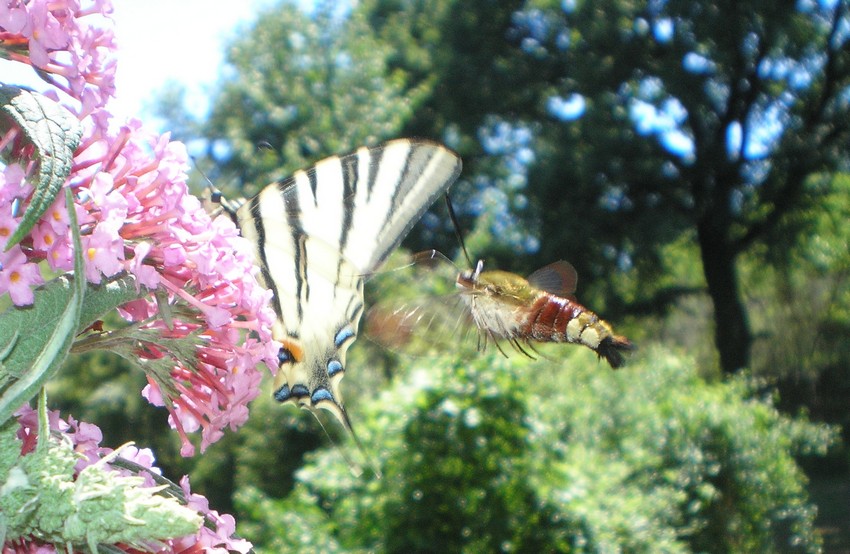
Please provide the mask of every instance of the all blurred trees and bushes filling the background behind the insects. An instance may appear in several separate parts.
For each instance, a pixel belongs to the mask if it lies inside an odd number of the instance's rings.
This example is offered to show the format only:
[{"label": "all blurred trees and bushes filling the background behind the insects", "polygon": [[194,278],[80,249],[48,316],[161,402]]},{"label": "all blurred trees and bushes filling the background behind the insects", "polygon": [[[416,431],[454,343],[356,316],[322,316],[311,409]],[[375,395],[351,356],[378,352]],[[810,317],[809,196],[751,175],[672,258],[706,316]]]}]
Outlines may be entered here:
[{"label": "all blurred trees and bushes filling the background behind the insects", "polygon": [[[410,358],[361,338],[343,386],[365,453],[264,395],[245,428],[179,459],[143,379],[106,357],[79,359],[52,398],[191,472],[264,552],[850,549],[848,23],[843,0],[257,14],[208,117],[162,94],[219,187],[438,140],[463,157],[452,200],[472,256],[523,274],[569,260],[579,299],[638,353],[611,372],[568,346],[531,362],[435,341]],[[467,265],[441,206],[405,245]],[[446,286],[388,272],[367,296]]]}]

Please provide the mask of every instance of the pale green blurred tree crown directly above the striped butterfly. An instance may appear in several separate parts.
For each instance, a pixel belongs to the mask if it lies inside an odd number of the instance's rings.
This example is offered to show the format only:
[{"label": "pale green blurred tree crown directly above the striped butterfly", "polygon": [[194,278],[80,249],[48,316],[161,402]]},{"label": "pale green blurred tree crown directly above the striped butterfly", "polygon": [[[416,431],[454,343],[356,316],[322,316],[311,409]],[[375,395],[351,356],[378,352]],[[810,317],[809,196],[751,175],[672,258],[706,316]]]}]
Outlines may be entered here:
[{"label": "pale green blurred tree crown directly above the striped butterfly", "polygon": [[[228,52],[231,78],[213,101],[207,136],[223,139],[229,176],[254,187],[330,154],[398,134],[415,109],[392,71],[389,44],[332,2],[308,17],[292,4],[260,14]],[[357,124],[352,124],[352,122]]]}]

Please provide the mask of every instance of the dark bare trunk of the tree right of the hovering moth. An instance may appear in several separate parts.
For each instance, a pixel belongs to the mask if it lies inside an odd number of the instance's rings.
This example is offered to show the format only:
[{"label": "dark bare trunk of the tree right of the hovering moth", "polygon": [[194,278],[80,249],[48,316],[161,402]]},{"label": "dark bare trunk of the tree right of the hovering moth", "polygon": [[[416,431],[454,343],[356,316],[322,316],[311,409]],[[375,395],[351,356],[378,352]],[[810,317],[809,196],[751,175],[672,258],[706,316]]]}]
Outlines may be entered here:
[{"label": "dark bare trunk of the tree right of the hovering moth", "polygon": [[697,225],[703,272],[714,303],[714,342],[724,373],[734,373],[750,363],[752,336],[747,312],[738,290],[736,251],[726,233],[703,220]]}]

